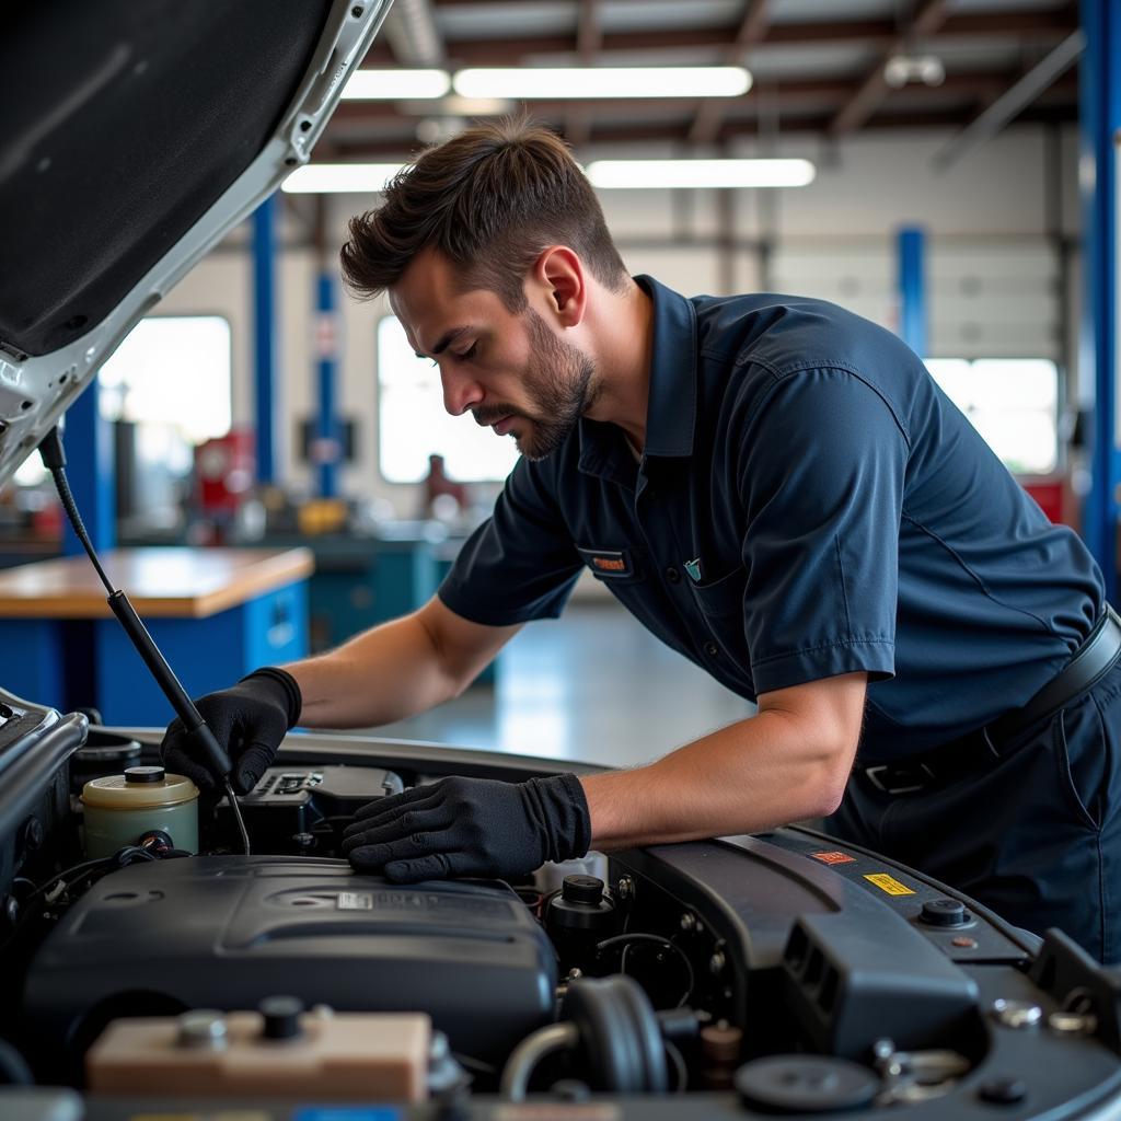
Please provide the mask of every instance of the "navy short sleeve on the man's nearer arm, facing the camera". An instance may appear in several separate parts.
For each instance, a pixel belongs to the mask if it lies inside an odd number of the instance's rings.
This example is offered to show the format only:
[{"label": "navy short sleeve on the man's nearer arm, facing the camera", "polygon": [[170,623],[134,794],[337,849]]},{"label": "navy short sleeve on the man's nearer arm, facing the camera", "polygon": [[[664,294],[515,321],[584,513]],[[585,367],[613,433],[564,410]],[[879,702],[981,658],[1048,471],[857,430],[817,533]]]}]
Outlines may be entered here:
[{"label": "navy short sleeve on the man's nearer arm, facing the camera", "polygon": [[859,670],[893,676],[908,442],[891,408],[847,370],[776,376],[741,447],[757,694]]}]

